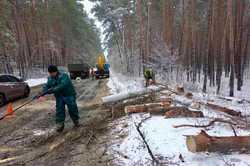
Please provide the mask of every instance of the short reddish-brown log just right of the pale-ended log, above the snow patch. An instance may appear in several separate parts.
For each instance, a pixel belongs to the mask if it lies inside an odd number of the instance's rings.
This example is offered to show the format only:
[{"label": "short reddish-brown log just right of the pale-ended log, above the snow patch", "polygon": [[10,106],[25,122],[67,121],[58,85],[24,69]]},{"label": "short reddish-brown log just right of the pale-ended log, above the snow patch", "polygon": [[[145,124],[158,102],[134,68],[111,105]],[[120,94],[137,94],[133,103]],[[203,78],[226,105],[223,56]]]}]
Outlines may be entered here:
[{"label": "short reddish-brown log just right of the pale-ended log, above the snow patch", "polygon": [[179,117],[204,117],[201,111],[190,111],[186,107],[170,107],[165,113],[166,118],[179,118]]}]

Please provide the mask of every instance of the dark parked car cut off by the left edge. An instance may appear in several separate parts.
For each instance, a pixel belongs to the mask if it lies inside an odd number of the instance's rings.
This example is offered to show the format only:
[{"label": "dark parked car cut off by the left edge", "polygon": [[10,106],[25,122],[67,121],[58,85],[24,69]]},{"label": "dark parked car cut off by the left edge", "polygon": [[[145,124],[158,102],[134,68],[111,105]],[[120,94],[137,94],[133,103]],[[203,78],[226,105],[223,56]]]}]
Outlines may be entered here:
[{"label": "dark parked car cut off by the left edge", "polygon": [[0,75],[0,106],[10,100],[28,97],[30,87],[22,79],[13,75]]}]

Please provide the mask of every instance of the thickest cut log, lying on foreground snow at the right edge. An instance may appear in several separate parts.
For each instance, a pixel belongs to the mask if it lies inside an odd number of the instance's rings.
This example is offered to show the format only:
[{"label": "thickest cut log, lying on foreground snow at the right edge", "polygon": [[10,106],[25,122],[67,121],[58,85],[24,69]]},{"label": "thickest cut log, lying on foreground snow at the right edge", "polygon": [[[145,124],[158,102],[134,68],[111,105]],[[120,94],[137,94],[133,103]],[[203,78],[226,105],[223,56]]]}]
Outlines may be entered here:
[{"label": "thickest cut log, lying on foreground snow at the right edge", "polygon": [[250,136],[214,137],[201,131],[198,135],[186,136],[186,144],[189,151],[219,152],[219,153],[249,153]]}]

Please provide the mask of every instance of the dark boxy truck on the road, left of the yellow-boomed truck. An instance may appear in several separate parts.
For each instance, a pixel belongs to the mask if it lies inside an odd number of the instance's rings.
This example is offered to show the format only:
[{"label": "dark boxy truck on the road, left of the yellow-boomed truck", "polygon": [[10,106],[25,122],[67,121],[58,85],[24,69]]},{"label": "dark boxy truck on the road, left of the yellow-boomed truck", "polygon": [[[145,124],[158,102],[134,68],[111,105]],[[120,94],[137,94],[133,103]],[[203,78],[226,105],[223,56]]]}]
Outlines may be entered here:
[{"label": "dark boxy truck on the road, left of the yellow-boomed truck", "polygon": [[68,64],[68,71],[70,78],[75,80],[77,78],[86,79],[89,77],[90,66],[86,63],[82,64]]}]

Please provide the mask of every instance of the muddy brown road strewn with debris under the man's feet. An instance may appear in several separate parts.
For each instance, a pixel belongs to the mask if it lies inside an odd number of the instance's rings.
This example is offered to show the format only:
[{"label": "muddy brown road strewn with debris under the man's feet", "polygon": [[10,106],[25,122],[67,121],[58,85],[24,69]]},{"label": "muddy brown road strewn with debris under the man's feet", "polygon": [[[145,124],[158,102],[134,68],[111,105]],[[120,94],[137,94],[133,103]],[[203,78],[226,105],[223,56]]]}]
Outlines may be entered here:
[{"label": "muddy brown road strewn with debris under the man's feet", "polygon": [[64,132],[55,131],[53,97],[0,121],[0,165],[113,165],[106,151],[110,112],[101,105],[101,97],[108,94],[106,82],[75,82],[82,124],[78,129],[67,115]]}]

